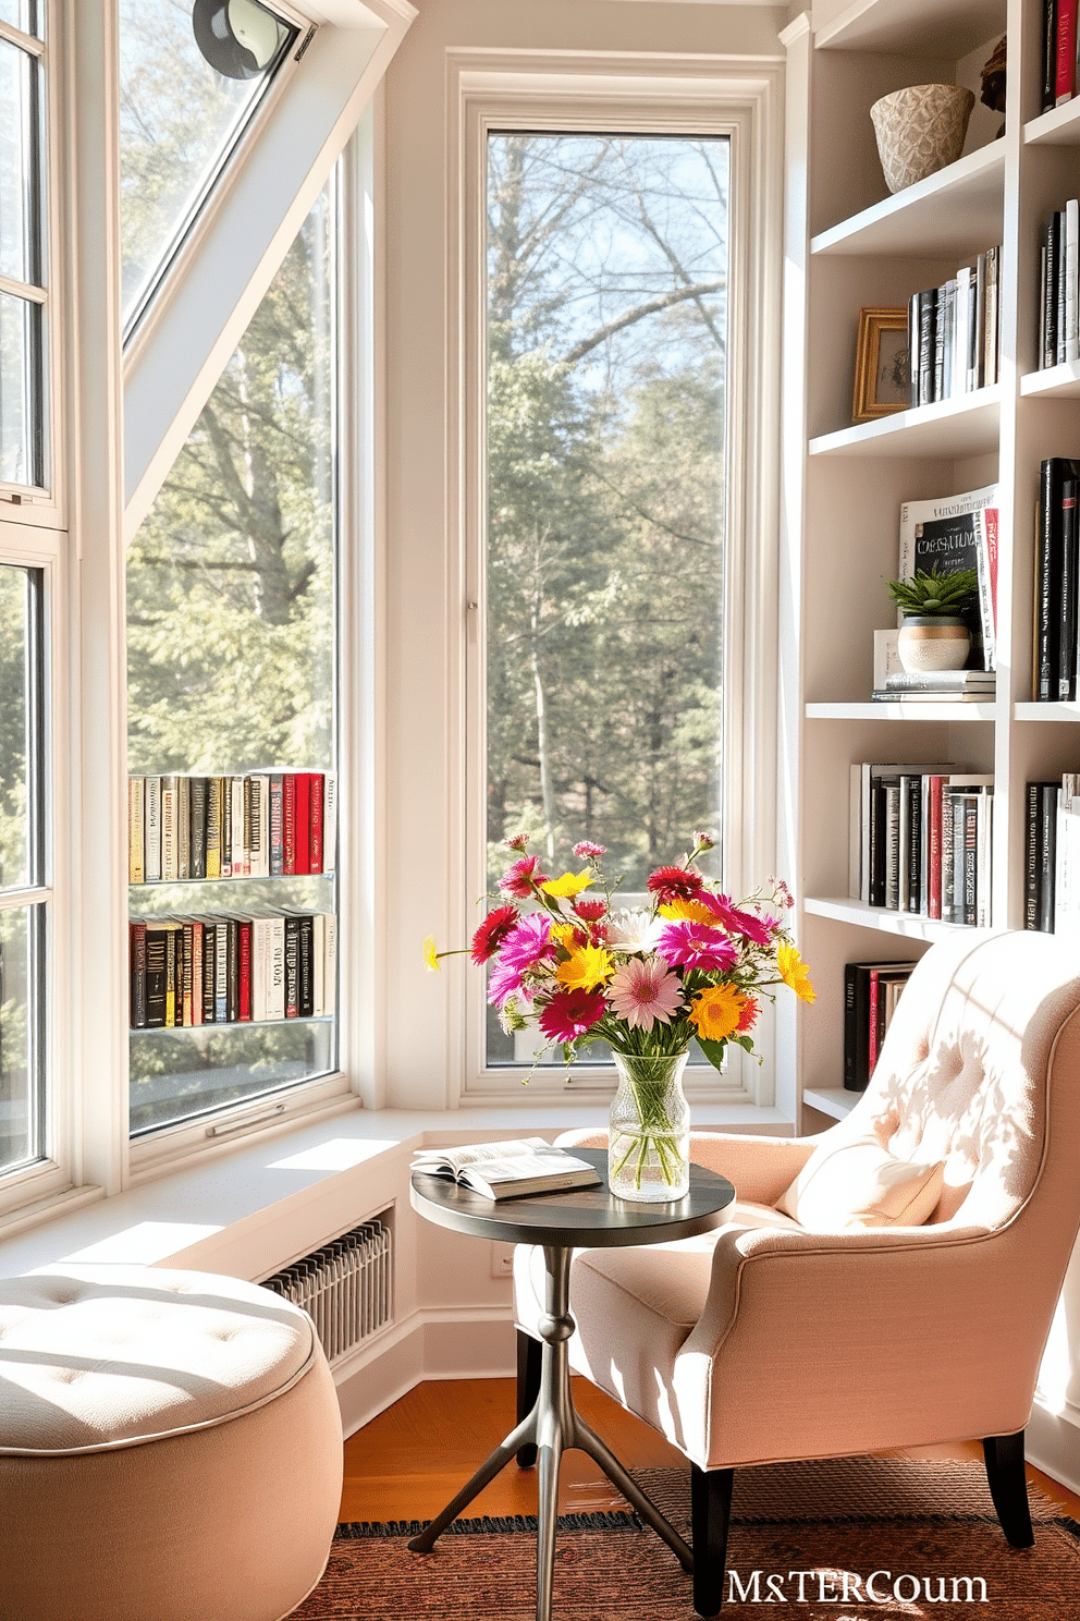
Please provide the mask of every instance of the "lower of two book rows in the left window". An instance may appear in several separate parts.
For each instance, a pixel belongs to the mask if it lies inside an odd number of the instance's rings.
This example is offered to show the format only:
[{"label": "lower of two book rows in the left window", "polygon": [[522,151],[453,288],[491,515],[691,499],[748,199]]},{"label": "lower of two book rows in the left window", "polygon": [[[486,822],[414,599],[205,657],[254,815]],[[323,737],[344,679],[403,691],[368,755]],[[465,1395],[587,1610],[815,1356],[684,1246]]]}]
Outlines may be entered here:
[{"label": "lower of two book rows in the left window", "polygon": [[325,1018],[337,917],[155,917],[130,924],[131,1029]]}]

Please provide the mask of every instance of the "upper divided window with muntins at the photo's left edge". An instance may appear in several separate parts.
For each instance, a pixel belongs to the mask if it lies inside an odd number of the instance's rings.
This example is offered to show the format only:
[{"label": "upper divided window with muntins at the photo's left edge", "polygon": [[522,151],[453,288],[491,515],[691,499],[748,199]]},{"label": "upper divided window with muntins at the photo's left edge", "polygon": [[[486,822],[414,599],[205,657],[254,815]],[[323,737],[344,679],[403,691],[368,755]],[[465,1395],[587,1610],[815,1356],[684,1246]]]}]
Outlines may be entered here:
[{"label": "upper divided window with muntins at the photo's left edge", "polygon": [[0,485],[49,483],[42,11],[0,13]]}]

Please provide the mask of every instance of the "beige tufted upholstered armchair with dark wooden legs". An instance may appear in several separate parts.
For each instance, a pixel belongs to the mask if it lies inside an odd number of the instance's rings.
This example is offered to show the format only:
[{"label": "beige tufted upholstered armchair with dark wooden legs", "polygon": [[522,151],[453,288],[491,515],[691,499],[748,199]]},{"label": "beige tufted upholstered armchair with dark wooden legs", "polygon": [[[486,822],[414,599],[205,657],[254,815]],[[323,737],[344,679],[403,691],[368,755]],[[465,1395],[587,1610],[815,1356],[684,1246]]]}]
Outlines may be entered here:
[{"label": "beige tufted upholstered armchair with dark wooden legs", "polygon": [[[575,1258],[572,1368],[690,1459],[699,1615],[721,1608],[733,1470],[755,1464],[978,1436],[1006,1537],[1033,1540],[1023,1428],[1080,1227],[1078,974],[1051,935],[934,945],[845,1120],[695,1133],[738,1195],[725,1227]],[[539,1276],[520,1248],[520,1401]]]}]

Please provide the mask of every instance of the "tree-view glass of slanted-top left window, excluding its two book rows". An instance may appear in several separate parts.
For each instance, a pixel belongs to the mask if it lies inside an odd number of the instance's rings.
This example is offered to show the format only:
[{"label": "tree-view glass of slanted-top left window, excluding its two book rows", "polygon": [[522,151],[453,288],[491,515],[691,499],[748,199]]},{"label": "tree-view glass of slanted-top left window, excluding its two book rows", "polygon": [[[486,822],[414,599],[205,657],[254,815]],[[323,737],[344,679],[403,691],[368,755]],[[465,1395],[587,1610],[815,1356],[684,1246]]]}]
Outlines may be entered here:
[{"label": "tree-view glass of slanted-top left window, excluding its two book rows", "polygon": [[[128,556],[128,763],[327,773],[337,755],[332,191],[319,198]],[[139,919],[337,911],[322,875],[136,883]],[[301,869],[303,870],[303,869]],[[131,1127],[324,1075],[322,1023],[131,1036]]]}]

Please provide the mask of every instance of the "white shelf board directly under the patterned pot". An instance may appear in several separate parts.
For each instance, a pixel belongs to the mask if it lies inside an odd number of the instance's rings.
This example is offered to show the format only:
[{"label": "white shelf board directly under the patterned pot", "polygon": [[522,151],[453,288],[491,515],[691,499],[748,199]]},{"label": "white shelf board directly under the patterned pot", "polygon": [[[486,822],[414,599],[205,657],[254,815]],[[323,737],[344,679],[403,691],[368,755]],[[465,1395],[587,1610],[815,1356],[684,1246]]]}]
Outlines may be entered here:
[{"label": "white shelf board directly under the patterned pot", "polygon": [[1004,180],[1006,152],[1001,141],[993,141],[823,230],[810,251],[894,258],[978,253],[1001,237]]}]

